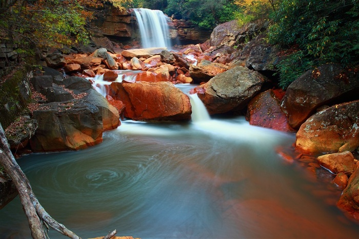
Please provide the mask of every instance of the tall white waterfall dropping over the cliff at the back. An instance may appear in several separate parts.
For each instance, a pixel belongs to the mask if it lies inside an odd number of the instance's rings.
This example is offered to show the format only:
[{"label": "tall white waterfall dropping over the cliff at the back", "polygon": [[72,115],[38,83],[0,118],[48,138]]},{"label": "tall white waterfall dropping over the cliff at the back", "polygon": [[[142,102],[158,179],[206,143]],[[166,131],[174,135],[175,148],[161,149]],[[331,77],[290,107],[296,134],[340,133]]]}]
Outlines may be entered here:
[{"label": "tall white waterfall dropping over the cliff at the back", "polygon": [[137,18],[143,48],[171,47],[167,19],[160,10],[133,9]]}]

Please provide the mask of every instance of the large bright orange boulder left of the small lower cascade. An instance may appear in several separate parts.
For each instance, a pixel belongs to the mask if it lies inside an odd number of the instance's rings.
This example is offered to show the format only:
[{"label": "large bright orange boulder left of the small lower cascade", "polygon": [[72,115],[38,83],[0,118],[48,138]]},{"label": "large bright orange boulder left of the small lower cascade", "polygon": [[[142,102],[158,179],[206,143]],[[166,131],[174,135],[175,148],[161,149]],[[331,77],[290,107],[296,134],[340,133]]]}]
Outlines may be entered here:
[{"label": "large bright orange boulder left of the small lower cascade", "polygon": [[124,103],[124,116],[132,120],[179,121],[191,118],[189,97],[169,82],[113,82],[109,95]]}]

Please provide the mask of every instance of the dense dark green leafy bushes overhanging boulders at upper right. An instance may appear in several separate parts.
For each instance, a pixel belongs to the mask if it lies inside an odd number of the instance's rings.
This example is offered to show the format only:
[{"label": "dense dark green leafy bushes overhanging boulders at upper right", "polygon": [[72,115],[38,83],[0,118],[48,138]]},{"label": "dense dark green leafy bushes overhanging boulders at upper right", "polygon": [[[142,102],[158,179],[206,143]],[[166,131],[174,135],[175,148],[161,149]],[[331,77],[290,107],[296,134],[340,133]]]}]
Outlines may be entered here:
[{"label": "dense dark green leafy bushes overhanging boulders at upper right", "polygon": [[[278,66],[283,86],[294,81],[297,69],[332,62],[343,67],[358,64],[359,3],[357,0],[283,0],[273,14],[269,42],[283,47],[298,45],[301,57],[287,58]],[[306,63],[303,64],[303,59]]]}]

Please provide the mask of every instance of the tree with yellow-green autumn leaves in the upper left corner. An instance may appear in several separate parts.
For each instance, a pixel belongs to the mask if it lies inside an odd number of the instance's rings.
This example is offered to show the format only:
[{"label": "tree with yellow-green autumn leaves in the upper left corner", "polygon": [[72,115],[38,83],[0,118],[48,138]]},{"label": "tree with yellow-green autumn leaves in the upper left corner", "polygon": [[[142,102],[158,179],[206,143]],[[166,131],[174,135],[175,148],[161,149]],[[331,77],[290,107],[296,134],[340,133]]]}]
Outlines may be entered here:
[{"label": "tree with yellow-green autumn leaves in the upper left corner", "polygon": [[[131,0],[110,0],[113,6]],[[0,9],[0,32],[27,53],[87,43],[87,23],[101,0],[9,0]]]}]

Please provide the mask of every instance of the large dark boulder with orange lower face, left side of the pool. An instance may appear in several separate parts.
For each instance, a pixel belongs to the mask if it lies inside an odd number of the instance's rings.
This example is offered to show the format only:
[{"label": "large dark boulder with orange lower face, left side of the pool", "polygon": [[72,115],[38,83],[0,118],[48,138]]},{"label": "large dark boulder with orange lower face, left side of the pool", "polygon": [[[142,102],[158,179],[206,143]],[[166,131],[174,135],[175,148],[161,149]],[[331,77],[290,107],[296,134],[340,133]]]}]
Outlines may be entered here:
[{"label": "large dark boulder with orange lower face, left side of the pool", "polygon": [[38,123],[30,138],[33,152],[78,150],[102,142],[101,114],[82,99],[43,104],[33,118]]}]

